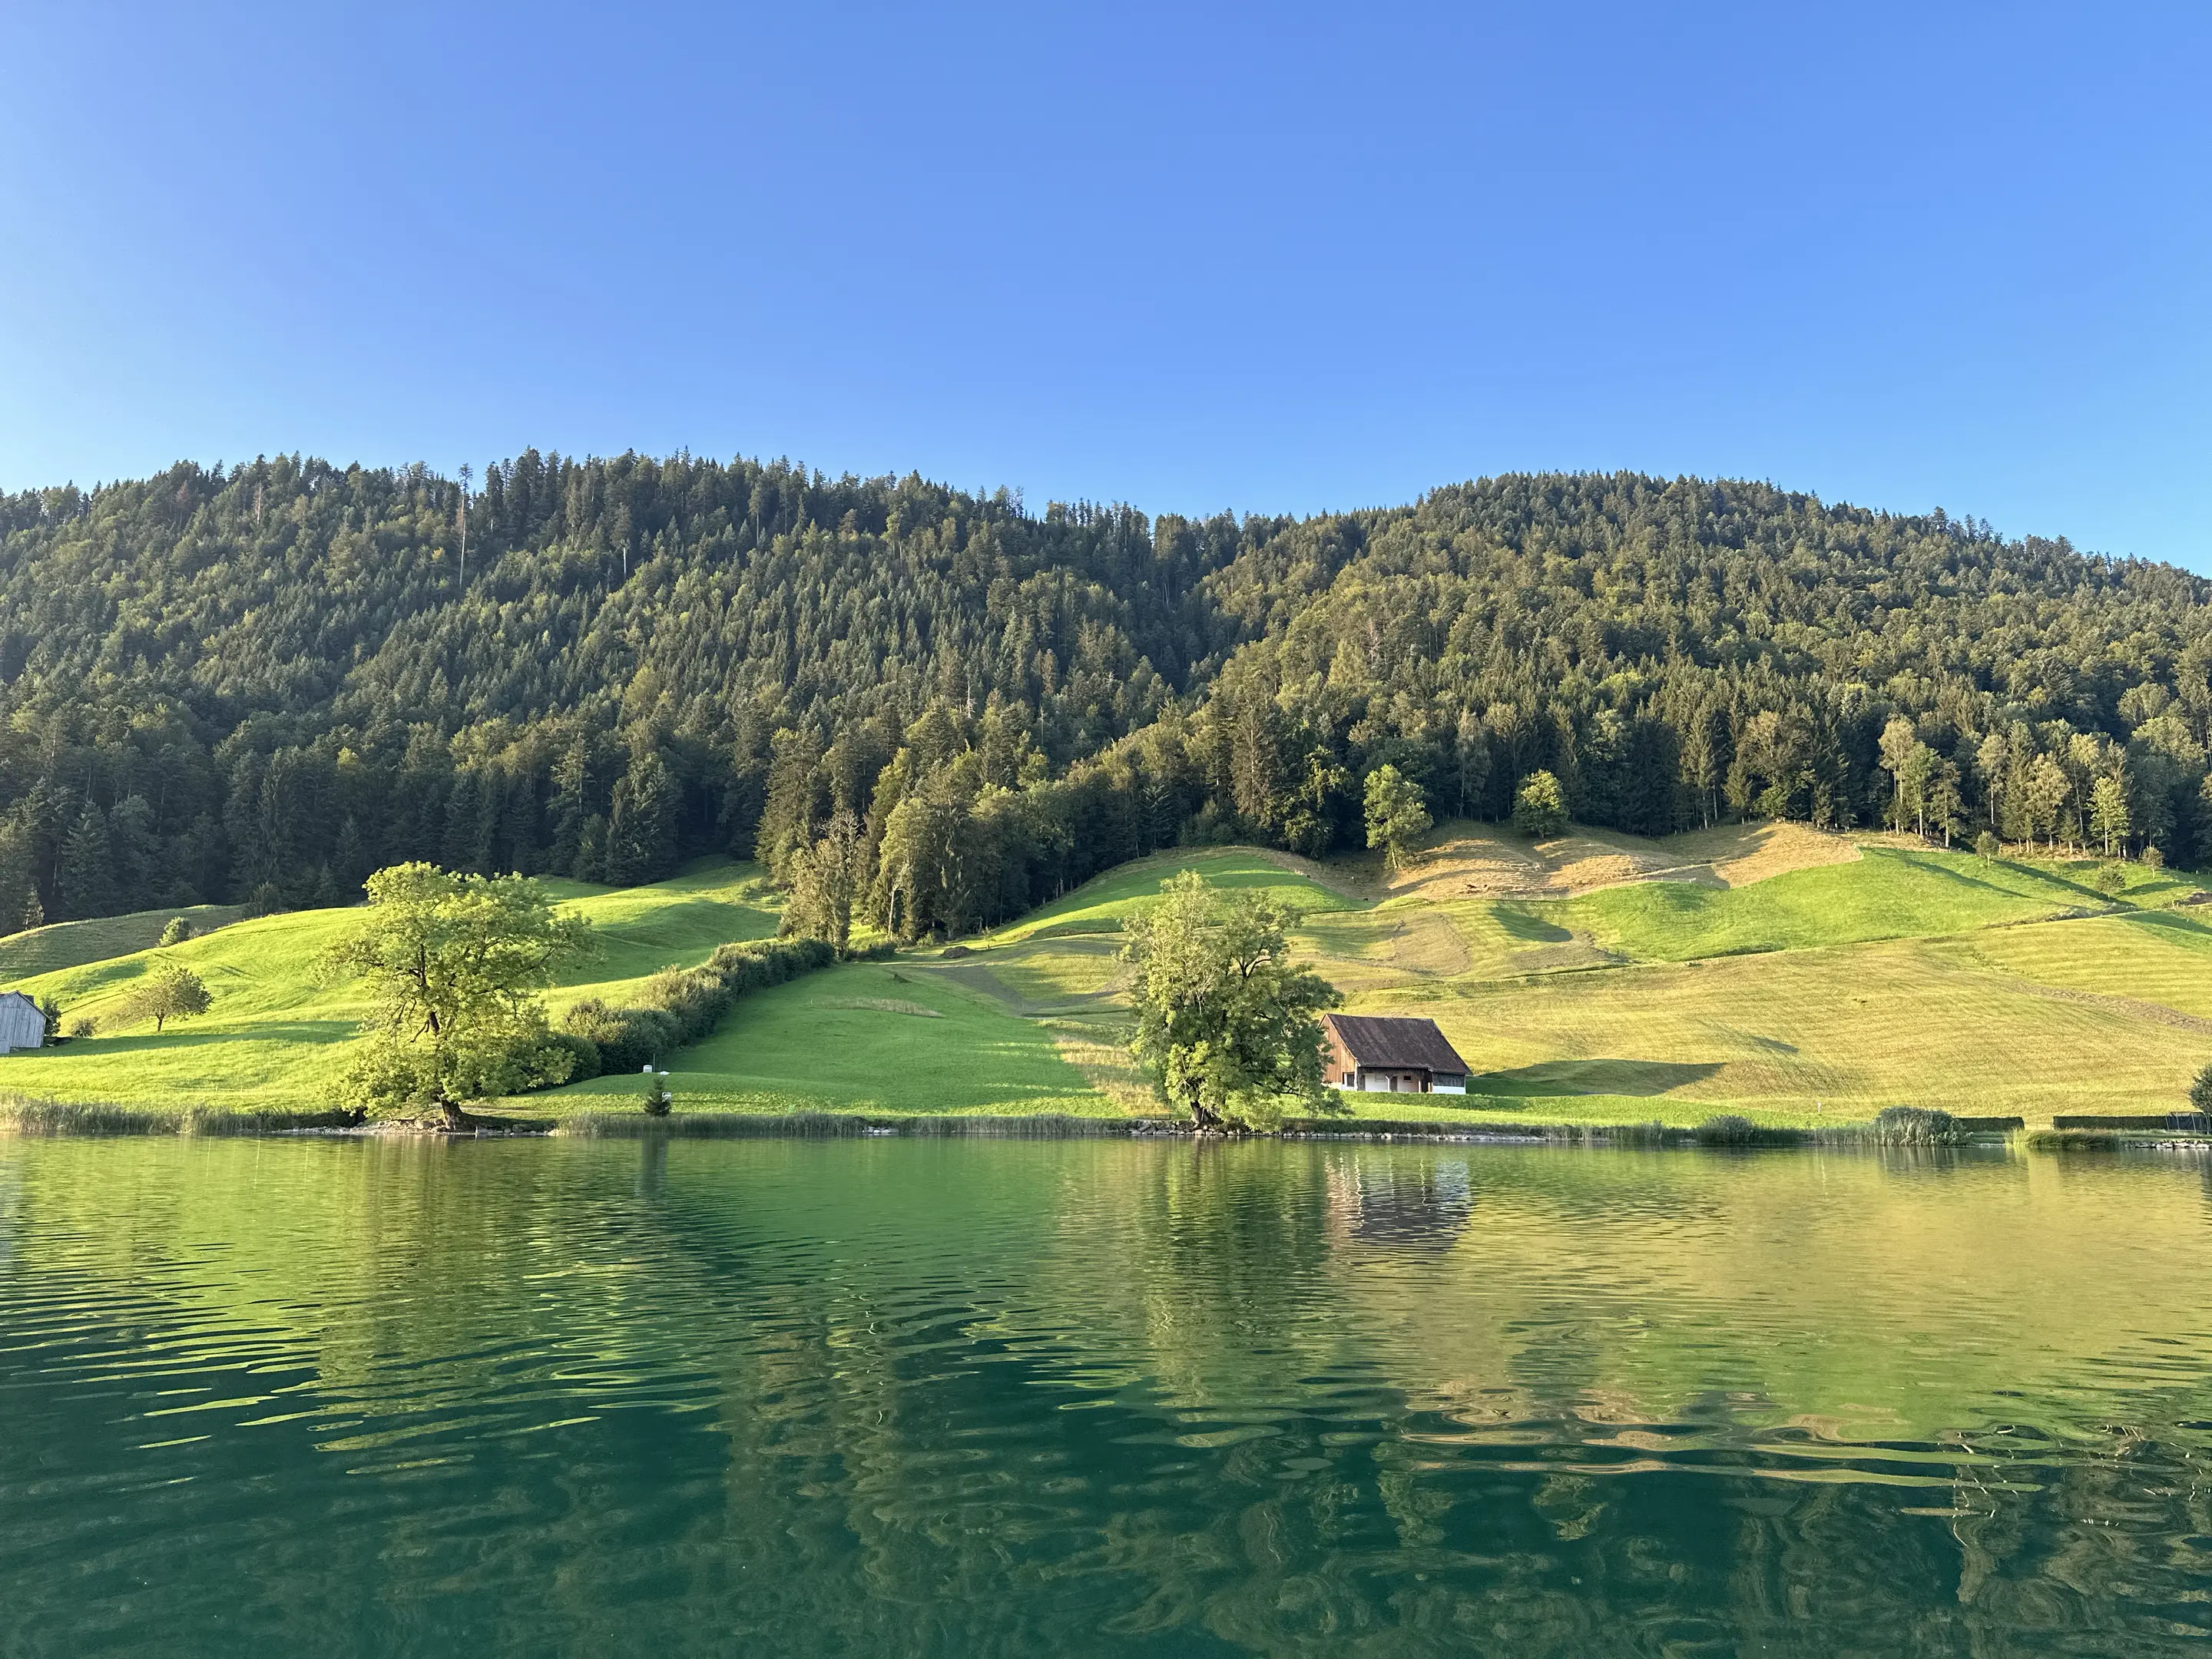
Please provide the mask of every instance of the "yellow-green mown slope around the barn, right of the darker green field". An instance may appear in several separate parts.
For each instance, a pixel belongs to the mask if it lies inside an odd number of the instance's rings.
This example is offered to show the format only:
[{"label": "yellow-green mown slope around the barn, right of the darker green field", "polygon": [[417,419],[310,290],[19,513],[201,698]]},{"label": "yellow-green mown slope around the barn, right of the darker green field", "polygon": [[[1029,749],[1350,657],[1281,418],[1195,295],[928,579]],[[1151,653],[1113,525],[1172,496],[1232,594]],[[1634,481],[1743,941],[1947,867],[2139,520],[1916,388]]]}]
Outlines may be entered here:
[{"label": "yellow-green mown slope around the barn, right of the darker green field", "polygon": [[[1555,898],[1416,867],[1398,896],[1356,900],[1385,891],[1369,860],[1323,887],[1261,854],[1161,856],[940,971],[1110,1051],[1110,929],[1179,867],[1232,869],[1303,898],[1294,942],[1347,1009],[1433,1015],[1475,1066],[1467,1099],[1354,1102],[1374,1117],[1834,1124],[1913,1104],[2042,1124],[2168,1110],[2212,1060],[2212,907],[2172,909],[2197,878],[2130,867],[2115,898],[2095,863],[1829,841],[1849,856],[1801,847],[1796,867],[1734,883],[1710,863],[1694,880],[1624,863],[1615,885]],[[1710,854],[1679,843],[1686,865]],[[1637,852],[1663,869],[1672,847]],[[1137,1099],[1126,1068],[1086,1075]]]}]

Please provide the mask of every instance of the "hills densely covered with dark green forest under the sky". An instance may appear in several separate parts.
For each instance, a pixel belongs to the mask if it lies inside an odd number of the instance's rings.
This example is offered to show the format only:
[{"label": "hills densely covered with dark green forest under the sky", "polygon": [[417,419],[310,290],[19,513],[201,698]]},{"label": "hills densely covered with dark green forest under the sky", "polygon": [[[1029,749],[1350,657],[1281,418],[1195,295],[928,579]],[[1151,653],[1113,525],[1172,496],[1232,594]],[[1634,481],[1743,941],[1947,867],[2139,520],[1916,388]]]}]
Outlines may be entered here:
[{"label": "hills densely covered with dark green forest under the sky", "polygon": [[2208,584],[1942,515],[1635,476],[1031,515],[535,451],[462,502],[296,458],[0,500],[0,927],[759,849],[960,931],[1172,841],[1356,845],[1383,763],[1440,814],[1551,770],[1639,832],[2212,856]]}]

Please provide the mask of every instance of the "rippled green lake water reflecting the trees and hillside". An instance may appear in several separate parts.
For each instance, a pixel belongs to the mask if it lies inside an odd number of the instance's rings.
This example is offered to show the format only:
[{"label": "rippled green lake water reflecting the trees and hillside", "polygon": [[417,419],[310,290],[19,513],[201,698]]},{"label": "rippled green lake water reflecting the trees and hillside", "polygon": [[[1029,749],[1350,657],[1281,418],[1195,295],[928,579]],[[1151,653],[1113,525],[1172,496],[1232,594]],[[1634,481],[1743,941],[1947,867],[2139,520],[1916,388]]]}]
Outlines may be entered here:
[{"label": "rippled green lake water reflecting the trees and hillside", "polygon": [[2212,1639],[2166,1157],[0,1141],[0,1655]]}]

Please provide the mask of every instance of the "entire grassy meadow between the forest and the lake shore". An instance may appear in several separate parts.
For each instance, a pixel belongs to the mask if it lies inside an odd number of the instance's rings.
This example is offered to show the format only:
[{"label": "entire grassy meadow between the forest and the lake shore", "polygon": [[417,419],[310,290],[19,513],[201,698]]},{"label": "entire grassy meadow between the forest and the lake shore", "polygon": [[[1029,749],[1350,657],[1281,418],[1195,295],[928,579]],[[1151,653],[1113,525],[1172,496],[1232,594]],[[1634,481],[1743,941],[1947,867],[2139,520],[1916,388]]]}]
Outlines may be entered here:
[{"label": "entire grassy meadow between the forest and the lake shore", "polygon": [[[1473,1068],[1471,1095],[1363,1095],[1356,1115],[1692,1126],[1863,1121],[1882,1106],[1962,1115],[2177,1108],[2212,1060],[2212,905],[2197,880],[2090,863],[1984,860],[1865,845],[1849,863],[1741,887],[1630,880],[1573,896],[1378,894],[1243,847],[1124,865],[947,951],[849,962],[743,1000],[668,1060],[679,1110],[1157,1113],[1128,1066],[1121,920],[1179,869],[1265,889],[1356,1013],[1425,1013]],[[765,938],[776,898],[752,865],[599,889],[553,883],[599,953],[551,993],[624,1002],[664,967]],[[321,1110],[363,1015],[314,962],[358,911],[230,920],[148,949],[168,911],[0,942],[11,989],[58,995],[100,1035],[0,1057],[0,1091],[58,1102]],[[212,925],[215,914],[206,922]],[[71,931],[75,929],[75,931]],[[104,958],[91,951],[122,947]],[[13,953],[9,953],[13,951]],[[104,1013],[159,956],[215,993],[208,1018],[150,1029]],[[35,971],[31,971],[35,969]],[[524,1117],[622,1108],[635,1077],[504,1102]]]}]

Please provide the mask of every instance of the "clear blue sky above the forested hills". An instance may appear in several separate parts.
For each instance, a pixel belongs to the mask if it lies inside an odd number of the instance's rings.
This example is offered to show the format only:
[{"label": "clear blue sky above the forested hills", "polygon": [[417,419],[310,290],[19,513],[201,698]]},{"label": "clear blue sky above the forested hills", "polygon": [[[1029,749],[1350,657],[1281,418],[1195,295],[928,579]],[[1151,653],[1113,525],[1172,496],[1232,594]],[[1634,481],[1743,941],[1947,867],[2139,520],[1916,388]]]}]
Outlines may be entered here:
[{"label": "clear blue sky above the forested hills", "polygon": [[0,487],[1774,478],[2212,568],[2212,7],[0,9]]}]

